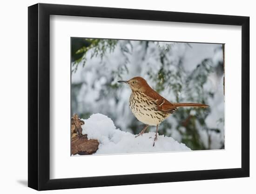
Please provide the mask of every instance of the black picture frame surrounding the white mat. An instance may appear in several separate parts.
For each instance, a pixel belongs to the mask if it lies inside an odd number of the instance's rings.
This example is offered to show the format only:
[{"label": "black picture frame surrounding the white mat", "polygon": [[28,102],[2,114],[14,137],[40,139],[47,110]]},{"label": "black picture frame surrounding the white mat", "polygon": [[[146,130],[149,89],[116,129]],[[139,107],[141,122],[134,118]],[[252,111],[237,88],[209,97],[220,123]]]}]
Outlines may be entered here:
[{"label": "black picture frame surrounding the white mat", "polygon": [[[242,167],[152,174],[53,179],[50,175],[50,15],[242,26]],[[108,7],[28,7],[28,187],[52,190],[249,176],[249,17]]]}]

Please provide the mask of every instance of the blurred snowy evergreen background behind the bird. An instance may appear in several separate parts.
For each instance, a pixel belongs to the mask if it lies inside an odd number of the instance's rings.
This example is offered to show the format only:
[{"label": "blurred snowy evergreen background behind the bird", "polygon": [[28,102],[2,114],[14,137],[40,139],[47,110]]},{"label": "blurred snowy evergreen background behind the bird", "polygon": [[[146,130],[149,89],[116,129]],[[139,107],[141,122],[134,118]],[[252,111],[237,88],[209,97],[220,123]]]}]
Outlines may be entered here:
[{"label": "blurred snowy evergreen background behind the bird", "polygon": [[[118,80],[141,76],[170,102],[209,108],[179,108],[159,134],[192,150],[224,149],[224,45],[71,38],[71,111],[80,118],[101,113],[122,131],[138,134],[144,124],[128,106],[131,90]],[[149,127],[155,131],[155,127]]]}]

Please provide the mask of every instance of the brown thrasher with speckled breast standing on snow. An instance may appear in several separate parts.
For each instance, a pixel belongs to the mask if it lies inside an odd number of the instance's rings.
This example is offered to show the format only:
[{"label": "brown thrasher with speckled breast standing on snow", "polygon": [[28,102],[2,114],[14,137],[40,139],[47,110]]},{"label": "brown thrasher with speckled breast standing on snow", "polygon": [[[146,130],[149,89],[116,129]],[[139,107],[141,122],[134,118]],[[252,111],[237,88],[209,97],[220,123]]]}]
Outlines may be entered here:
[{"label": "brown thrasher with speckled breast standing on snow", "polygon": [[165,120],[170,114],[174,114],[178,107],[209,107],[199,103],[171,103],[153,90],[141,77],[134,77],[128,81],[118,81],[119,83],[127,83],[132,89],[129,100],[129,107],[135,117],[146,124],[141,132],[136,135],[144,134],[148,126],[156,126],[155,140],[157,140],[157,132],[159,124]]}]

